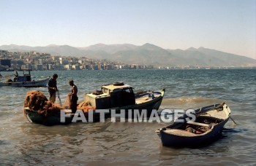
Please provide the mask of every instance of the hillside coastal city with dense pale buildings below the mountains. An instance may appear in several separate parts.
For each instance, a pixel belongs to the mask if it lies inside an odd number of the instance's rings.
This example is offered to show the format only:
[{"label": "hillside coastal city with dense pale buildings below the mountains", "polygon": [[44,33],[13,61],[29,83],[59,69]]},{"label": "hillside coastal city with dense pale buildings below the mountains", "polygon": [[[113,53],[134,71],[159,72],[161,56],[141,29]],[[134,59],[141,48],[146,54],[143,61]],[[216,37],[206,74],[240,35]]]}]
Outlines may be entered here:
[{"label": "hillside coastal city with dense pale buildings below the mountains", "polygon": [[98,60],[86,57],[65,57],[40,52],[10,52],[0,50],[0,71],[20,71],[30,69],[44,70],[123,70],[147,69],[154,66],[124,64],[110,60]]}]

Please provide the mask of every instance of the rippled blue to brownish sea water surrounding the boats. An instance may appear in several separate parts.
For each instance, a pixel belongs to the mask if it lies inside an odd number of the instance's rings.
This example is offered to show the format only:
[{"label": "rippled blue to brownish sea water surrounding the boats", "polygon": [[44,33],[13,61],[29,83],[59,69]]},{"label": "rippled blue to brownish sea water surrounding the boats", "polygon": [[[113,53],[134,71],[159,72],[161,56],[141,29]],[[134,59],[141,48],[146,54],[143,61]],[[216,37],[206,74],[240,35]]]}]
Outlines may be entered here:
[{"label": "rippled blue to brownish sea water surrounding the boats", "polygon": [[[32,71],[33,79],[59,74],[64,102],[69,79],[79,101],[102,84],[125,82],[135,91],[162,90],[160,108],[200,108],[225,101],[232,117],[223,137],[203,148],[163,147],[162,123],[77,123],[45,127],[23,117],[26,92],[47,88],[0,87],[0,165],[256,165],[256,70]],[[10,74],[1,72],[2,75]],[[1,80],[5,81],[5,80]]]}]

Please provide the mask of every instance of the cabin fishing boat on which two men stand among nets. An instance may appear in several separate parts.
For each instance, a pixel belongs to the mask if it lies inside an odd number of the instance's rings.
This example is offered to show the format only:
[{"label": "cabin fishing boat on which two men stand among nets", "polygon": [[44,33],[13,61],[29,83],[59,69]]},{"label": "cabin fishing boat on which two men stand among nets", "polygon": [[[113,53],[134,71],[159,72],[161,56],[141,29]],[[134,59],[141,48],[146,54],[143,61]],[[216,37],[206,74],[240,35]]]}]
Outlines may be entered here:
[{"label": "cabin fishing boat on which two men stand among nets", "polygon": [[[128,84],[116,82],[102,85],[101,90],[86,93],[84,102],[90,103],[94,110],[110,110],[104,113],[105,119],[111,116],[111,110],[115,110],[115,114],[120,114],[121,110],[124,110],[126,118],[129,116],[128,112],[135,109],[139,112],[146,110],[147,116],[150,116],[152,110],[159,108],[164,95],[165,89],[159,92],[144,91],[134,93],[133,88]],[[31,122],[42,125],[69,124],[75,116],[75,114],[70,114],[70,109],[61,109],[60,111],[64,111],[64,114],[70,115],[66,117],[65,122],[61,122],[61,113],[45,116],[45,114],[37,114],[37,110],[30,109],[29,107],[24,108],[24,111]],[[102,118],[98,111],[93,111],[93,122],[99,122],[100,118]],[[86,121],[89,122],[89,112],[84,112],[83,114]]]}]

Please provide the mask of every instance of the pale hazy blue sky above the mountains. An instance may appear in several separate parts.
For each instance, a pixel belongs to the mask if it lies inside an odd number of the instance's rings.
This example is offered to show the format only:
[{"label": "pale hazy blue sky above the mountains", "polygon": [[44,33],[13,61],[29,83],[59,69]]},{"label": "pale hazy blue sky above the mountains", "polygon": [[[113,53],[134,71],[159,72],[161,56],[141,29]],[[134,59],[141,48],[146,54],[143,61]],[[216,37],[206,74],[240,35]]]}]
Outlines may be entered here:
[{"label": "pale hazy blue sky above the mountains", "polygon": [[256,0],[0,0],[0,45],[155,44],[256,59]]}]

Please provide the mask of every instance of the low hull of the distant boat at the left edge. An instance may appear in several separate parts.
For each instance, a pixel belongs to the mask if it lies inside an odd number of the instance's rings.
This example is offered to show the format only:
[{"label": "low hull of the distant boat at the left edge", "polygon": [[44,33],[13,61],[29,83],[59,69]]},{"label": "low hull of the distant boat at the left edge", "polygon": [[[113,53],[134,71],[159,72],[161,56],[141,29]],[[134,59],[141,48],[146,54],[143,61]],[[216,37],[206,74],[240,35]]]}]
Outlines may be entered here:
[{"label": "low hull of the distant boat at the left edge", "polygon": [[50,78],[31,82],[0,82],[0,87],[46,87]]}]

